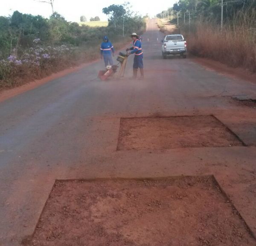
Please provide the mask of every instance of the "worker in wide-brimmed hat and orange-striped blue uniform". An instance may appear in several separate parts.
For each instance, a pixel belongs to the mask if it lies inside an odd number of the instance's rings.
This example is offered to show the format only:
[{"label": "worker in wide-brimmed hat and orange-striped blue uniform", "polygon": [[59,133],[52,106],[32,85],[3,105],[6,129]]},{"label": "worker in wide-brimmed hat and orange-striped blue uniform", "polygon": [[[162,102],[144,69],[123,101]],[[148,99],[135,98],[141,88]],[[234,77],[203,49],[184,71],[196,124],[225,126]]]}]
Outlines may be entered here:
[{"label": "worker in wide-brimmed hat and orange-striped blue uniform", "polygon": [[141,41],[139,36],[136,33],[131,34],[133,39],[133,46],[126,49],[128,55],[134,54],[134,65],[133,65],[133,78],[137,78],[138,68],[140,68],[140,78],[144,78],[144,69],[143,69],[143,51],[141,47]]}]

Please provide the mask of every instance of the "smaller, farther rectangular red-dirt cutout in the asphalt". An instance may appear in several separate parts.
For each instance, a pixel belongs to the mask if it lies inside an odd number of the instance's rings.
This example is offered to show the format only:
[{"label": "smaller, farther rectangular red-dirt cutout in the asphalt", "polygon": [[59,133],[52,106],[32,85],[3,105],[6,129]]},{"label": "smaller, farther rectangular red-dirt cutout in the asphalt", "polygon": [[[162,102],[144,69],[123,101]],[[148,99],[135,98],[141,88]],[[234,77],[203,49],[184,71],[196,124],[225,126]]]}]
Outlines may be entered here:
[{"label": "smaller, farther rectangular red-dirt cutout in the asphalt", "polygon": [[117,150],[244,146],[212,115],[121,118]]}]

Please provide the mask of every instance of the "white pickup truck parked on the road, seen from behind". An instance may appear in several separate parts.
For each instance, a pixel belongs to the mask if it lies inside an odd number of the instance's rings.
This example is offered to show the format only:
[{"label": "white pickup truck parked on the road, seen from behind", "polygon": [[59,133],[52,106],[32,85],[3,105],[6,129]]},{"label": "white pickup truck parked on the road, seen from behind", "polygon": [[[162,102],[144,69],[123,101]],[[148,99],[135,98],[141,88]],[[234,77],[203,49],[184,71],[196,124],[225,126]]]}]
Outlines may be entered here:
[{"label": "white pickup truck parked on the road, seen from behind", "polygon": [[180,54],[186,58],[186,41],[181,34],[166,35],[162,43],[163,59],[166,59],[168,54]]}]

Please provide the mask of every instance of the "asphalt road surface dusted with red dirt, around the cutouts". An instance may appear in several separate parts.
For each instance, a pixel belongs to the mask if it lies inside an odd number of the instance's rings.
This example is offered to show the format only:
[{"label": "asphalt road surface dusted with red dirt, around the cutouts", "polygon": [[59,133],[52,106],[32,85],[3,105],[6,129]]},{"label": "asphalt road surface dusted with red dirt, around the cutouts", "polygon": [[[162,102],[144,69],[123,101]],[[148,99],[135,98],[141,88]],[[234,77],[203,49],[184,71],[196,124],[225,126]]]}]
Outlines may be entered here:
[{"label": "asphalt road surface dusted with red dirt, around the cutouts", "polygon": [[[128,79],[132,57],[125,79],[94,80],[99,61],[0,103],[0,244],[32,234],[55,179],[94,177],[213,174],[256,234],[256,108],[232,99],[255,98],[256,84],[189,58],[163,60],[155,20],[143,37],[143,81]],[[239,143],[211,146],[204,129],[203,146],[117,151],[120,118],[210,115]]]}]

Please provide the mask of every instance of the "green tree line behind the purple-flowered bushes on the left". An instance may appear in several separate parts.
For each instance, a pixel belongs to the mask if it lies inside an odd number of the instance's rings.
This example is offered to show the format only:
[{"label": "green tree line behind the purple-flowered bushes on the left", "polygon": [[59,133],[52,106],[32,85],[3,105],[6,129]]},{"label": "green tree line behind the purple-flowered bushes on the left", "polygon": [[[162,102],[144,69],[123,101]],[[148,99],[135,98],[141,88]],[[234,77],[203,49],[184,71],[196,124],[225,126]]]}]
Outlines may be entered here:
[{"label": "green tree line behind the purple-flowered bushes on the left", "polygon": [[[107,27],[79,26],[76,22],[68,22],[57,12],[49,18],[19,11],[14,11],[9,17],[0,16],[0,58],[8,57],[14,50],[22,53],[33,45],[35,39],[40,39],[44,46],[80,46],[100,41],[103,35],[115,38],[145,28],[143,17],[131,13],[126,3],[103,8],[102,12],[108,15]],[[94,20],[99,20],[99,17]]]}]

